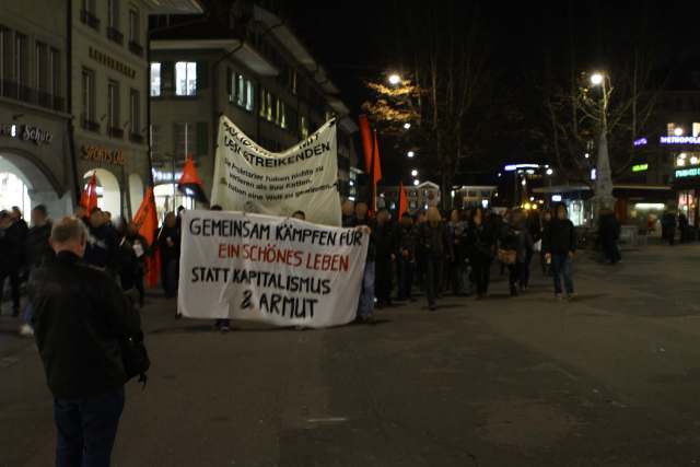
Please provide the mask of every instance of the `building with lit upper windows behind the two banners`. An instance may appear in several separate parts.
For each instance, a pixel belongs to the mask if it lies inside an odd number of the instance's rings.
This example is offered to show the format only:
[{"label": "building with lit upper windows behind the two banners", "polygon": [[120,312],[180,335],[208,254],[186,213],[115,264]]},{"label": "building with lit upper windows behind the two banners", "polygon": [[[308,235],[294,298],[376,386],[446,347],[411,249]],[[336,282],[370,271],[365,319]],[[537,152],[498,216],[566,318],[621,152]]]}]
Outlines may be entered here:
[{"label": "building with lit upper windows behind the two banners", "polygon": [[151,21],[151,147],[160,213],[192,206],[175,188],[188,155],[211,191],[221,115],[272,152],[338,117],[339,189],[349,196],[357,126],[338,89],[272,13],[252,7],[245,22],[234,16],[229,10]]}]

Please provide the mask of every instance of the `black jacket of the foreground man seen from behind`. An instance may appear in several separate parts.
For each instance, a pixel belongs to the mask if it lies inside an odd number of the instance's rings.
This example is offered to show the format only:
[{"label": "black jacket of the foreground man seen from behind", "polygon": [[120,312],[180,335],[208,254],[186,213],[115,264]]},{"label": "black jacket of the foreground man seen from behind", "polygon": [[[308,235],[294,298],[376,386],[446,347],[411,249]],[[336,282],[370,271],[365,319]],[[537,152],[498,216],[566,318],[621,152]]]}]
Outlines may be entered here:
[{"label": "black jacket of the foreground man seen from behind", "polygon": [[36,345],[55,397],[80,399],[124,385],[120,342],[140,336],[141,324],[107,273],[61,252],[32,273],[30,300]]}]

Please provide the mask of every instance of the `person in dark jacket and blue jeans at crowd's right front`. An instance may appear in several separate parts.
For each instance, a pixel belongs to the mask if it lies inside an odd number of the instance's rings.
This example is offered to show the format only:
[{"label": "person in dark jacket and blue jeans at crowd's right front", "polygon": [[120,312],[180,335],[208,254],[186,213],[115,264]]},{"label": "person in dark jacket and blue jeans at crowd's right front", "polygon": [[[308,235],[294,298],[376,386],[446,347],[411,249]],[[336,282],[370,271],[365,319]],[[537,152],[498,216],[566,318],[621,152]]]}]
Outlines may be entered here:
[{"label": "person in dark jacket and blue jeans at crowd's right front", "polygon": [[567,207],[557,207],[557,217],[549,223],[545,232],[542,247],[548,262],[551,262],[551,271],[555,277],[555,295],[561,299],[561,276],[564,277],[567,299],[573,297],[573,271],[572,260],[576,253],[576,231],[567,218]]}]

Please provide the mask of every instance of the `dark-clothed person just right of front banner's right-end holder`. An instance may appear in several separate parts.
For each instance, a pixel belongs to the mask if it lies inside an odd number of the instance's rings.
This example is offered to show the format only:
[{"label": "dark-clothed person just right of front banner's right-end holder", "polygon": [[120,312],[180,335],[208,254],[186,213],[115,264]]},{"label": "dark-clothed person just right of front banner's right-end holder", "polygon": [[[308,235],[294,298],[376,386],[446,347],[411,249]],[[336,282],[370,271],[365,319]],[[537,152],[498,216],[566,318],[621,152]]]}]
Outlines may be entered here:
[{"label": "dark-clothed person just right of front banner's right-end holder", "polygon": [[374,222],[376,256],[375,294],[376,306],[392,306],[392,268],[396,261],[396,231],[389,222],[389,211],[380,209]]}]

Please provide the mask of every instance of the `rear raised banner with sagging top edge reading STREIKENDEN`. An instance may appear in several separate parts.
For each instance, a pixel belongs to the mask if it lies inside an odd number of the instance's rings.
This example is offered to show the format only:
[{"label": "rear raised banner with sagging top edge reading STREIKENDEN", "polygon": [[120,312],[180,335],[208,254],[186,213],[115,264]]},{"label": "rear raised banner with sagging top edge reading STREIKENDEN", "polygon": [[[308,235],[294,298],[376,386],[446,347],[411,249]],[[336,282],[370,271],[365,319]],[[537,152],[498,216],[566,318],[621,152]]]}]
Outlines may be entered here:
[{"label": "rear raised banner with sagging top edge reading STREIKENDEN", "polygon": [[310,222],[340,225],[336,120],[273,153],[222,115],[213,180],[211,203],[226,211],[284,217],[304,211]]}]

